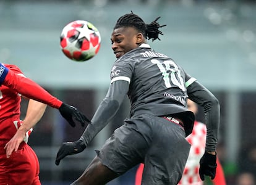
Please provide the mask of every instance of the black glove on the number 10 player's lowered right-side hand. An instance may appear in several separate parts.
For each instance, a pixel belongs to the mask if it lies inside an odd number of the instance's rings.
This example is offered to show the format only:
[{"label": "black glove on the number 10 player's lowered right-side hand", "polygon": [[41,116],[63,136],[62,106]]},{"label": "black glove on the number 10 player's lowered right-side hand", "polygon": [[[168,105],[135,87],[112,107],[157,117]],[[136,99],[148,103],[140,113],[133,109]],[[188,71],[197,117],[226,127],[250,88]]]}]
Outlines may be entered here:
[{"label": "black glove on the number 10 player's lowered right-side hand", "polygon": [[217,154],[209,154],[208,152],[205,152],[203,154],[202,158],[200,159],[200,168],[199,168],[199,175],[202,181],[205,180],[205,175],[210,176],[211,179],[215,178],[216,175],[216,158]]}]

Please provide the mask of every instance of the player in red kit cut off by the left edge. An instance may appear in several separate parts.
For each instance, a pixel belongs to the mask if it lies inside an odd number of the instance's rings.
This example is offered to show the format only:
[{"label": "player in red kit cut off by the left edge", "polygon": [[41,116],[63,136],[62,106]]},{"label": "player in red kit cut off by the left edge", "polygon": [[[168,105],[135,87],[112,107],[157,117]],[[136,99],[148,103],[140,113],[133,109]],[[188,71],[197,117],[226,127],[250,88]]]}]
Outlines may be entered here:
[{"label": "player in red kit cut off by the left edge", "polygon": [[[23,121],[20,120],[21,94],[37,100],[29,100]],[[46,104],[59,109],[71,126],[75,126],[73,118],[82,126],[90,121],[75,107],[64,104],[26,78],[17,66],[0,64],[0,185],[41,184],[38,158],[27,141]]]}]

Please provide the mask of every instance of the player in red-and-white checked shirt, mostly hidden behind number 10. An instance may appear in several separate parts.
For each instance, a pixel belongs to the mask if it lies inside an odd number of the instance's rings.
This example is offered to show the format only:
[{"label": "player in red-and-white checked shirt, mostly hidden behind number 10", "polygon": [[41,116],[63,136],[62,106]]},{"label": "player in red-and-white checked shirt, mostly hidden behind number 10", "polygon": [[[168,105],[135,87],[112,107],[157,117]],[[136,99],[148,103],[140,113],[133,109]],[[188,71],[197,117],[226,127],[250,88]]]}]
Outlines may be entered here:
[{"label": "player in red-and-white checked shirt, mostly hidden behind number 10", "polygon": [[[187,108],[197,114],[197,104],[195,102],[187,100]],[[205,139],[207,134],[207,127],[205,124],[195,121],[194,128],[192,133],[187,136],[187,141],[191,144],[189,151],[189,158],[187,159],[184,172],[182,174],[181,181],[178,185],[203,185],[203,181],[199,176],[199,161],[205,150]],[[223,173],[223,168],[221,167],[220,160],[217,157],[216,160],[216,176],[212,179],[213,184],[215,185],[226,185],[226,180]],[[135,185],[140,185],[142,182],[142,173],[143,173],[143,163],[139,165],[135,176]]]}]

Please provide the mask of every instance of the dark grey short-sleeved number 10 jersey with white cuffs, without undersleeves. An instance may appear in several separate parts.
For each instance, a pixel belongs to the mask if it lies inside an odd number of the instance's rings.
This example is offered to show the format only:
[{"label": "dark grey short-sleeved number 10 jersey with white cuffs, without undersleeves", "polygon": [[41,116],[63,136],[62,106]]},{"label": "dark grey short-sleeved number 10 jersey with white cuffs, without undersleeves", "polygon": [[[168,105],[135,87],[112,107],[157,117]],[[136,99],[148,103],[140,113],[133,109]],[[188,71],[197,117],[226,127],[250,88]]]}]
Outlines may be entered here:
[{"label": "dark grey short-sleeved number 10 jersey with white cuffs, without undersleeves", "polygon": [[143,111],[170,115],[187,110],[187,86],[195,81],[167,55],[153,51],[148,44],[127,52],[116,60],[111,83],[129,81],[130,115]]}]

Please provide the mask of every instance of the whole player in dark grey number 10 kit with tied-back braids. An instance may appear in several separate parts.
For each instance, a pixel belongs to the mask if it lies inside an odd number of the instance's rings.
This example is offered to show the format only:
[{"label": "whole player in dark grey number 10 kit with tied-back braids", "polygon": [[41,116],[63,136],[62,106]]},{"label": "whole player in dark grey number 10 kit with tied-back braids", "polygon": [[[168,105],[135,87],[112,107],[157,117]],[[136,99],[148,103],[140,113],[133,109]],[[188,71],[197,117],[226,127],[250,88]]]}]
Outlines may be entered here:
[{"label": "whole player in dark grey number 10 kit with tied-back braids", "polygon": [[157,21],[146,24],[133,13],[117,20],[111,35],[117,60],[111,84],[91,123],[79,140],[64,142],[56,165],[66,155],[82,152],[129,96],[130,118],[117,128],[74,184],[106,184],[127,170],[144,163],[142,184],[177,184],[181,179],[190,144],[194,113],[187,109],[187,97],[202,105],[207,120],[205,154],[200,160],[200,176],[215,178],[216,144],[220,125],[218,99],[189,76],[165,54],[156,52],[147,39],[163,33]]}]

